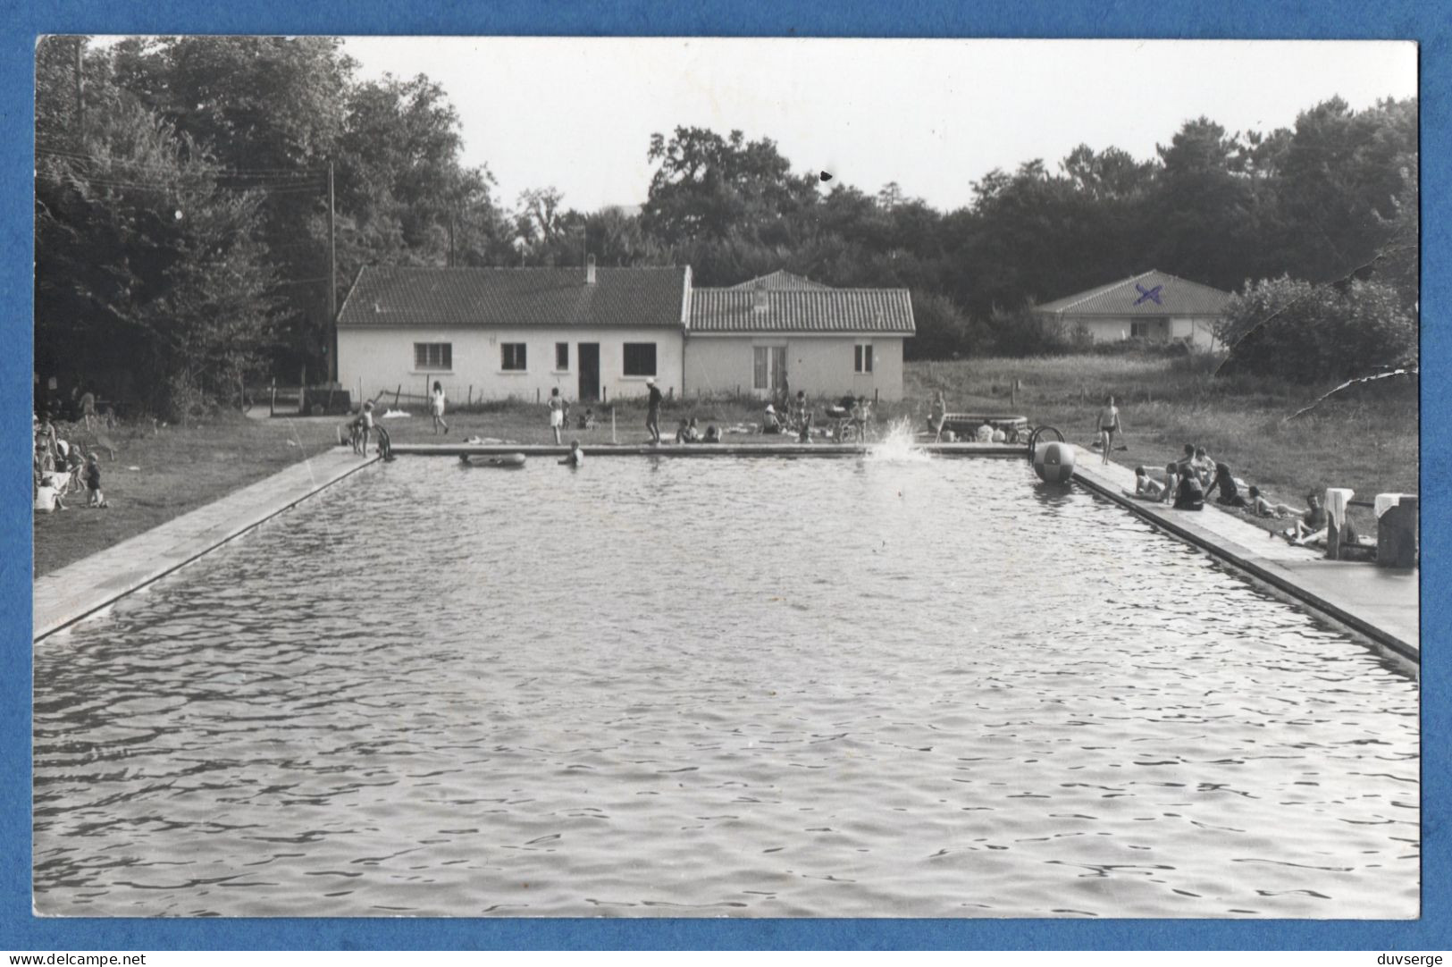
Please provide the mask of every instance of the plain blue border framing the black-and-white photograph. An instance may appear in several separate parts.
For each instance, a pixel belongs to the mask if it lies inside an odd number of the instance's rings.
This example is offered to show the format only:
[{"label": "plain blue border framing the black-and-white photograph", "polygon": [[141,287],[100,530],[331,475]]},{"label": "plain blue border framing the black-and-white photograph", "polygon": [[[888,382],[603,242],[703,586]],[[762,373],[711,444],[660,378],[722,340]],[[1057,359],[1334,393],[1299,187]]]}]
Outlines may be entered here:
[{"label": "plain blue border framing the black-and-white photograph", "polygon": [[[33,45],[41,33],[375,33],[671,36],[1376,38],[1422,44],[1423,481],[1448,479],[1442,427],[1448,279],[1448,41],[1440,3],[1365,0],[1268,4],[1221,0],[1115,3],[398,3],[308,0],[229,4],[61,0],[6,4],[0,25],[0,950],[459,950],[459,948],[1241,948],[1446,950],[1446,603],[1423,600],[1423,915],[1347,921],[430,921],[36,919],[30,915],[30,507],[29,473]],[[1207,4],[1210,6],[1210,4]],[[823,78],[823,84],[829,84]],[[1106,109],[1133,110],[1134,105]],[[1423,484],[1423,585],[1446,585],[1443,492]]]}]

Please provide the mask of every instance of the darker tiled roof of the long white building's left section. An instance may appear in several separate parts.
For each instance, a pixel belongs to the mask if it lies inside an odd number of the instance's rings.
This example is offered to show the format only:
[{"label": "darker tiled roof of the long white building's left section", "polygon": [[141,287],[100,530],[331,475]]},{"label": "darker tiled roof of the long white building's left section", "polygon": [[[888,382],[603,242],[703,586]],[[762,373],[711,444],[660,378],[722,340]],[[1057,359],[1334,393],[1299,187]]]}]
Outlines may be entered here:
[{"label": "darker tiled roof of the long white building's left section", "polygon": [[680,327],[688,269],[417,269],[367,266],[338,325]]}]

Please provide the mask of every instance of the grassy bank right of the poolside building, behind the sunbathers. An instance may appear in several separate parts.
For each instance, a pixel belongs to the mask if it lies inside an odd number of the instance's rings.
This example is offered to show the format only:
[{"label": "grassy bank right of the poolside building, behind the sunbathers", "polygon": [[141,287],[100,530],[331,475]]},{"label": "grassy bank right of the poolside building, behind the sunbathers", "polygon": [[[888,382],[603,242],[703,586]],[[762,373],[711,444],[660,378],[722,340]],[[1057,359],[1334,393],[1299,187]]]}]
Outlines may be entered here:
[{"label": "grassy bank right of the poolside building, behind the sunbathers", "polygon": [[[1127,447],[1115,452],[1118,463],[1163,468],[1185,443],[1195,443],[1272,501],[1295,507],[1304,505],[1308,491],[1327,486],[1349,486],[1356,499],[1417,492],[1414,386],[1382,383],[1347,392],[1288,421],[1330,388],[1263,378],[1217,379],[1212,369],[1208,357],[916,363],[906,372],[906,395],[926,401],[941,388],[950,409],[1013,409],[1037,425],[1057,427],[1073,443],[1089,444],[1104,396],[1114,393]],[[1021,386],[1016,407],[1011,404],[1015,379]],[[1369,511],[1353,510],[1353,515],[1362,533],[1375,533]],[[1275,521],[1257,523],[1275,527]]]}]

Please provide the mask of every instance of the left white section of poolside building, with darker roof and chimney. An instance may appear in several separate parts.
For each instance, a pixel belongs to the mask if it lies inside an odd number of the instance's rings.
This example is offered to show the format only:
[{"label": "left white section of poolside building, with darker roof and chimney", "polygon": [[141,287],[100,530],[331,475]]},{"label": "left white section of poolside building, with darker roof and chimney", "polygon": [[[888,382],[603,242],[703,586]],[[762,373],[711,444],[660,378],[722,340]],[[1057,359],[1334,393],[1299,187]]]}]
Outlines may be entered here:
[{"label": "left white section of poolside building, with darker roof and chimney", "polygon": [[680,393],[690,269],[366,267],[338,311],[360,398],[436,380],[452,401]]}]

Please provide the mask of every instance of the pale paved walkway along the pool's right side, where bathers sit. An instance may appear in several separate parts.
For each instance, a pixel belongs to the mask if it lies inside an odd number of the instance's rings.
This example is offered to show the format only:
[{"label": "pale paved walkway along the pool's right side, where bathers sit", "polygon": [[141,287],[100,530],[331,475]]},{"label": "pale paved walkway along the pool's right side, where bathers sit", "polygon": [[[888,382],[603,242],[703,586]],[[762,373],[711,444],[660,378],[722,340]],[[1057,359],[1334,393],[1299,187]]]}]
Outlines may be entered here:
[{"label": "pale paved walkway along the pool's right side, where bathers sit", "polygon": [[1125,489],[1134,491],[1134,470],[1118,463],[1102,465],[1092,450],[1076,450],[1074,479],[1085,486],[1392,650],[1420,661],[1420,571],[1327,560],[1324,552],[1294,547],[1214,504],[1205,504],[1199,513],[1176,511],[1125,497]]}]

